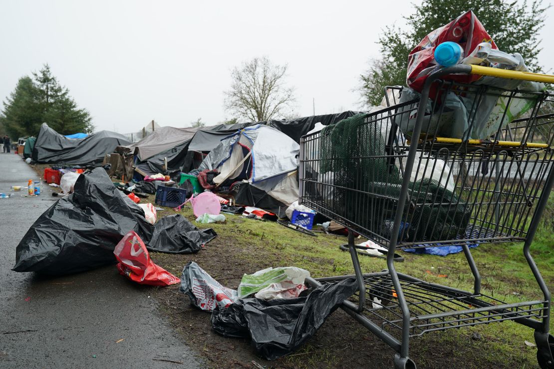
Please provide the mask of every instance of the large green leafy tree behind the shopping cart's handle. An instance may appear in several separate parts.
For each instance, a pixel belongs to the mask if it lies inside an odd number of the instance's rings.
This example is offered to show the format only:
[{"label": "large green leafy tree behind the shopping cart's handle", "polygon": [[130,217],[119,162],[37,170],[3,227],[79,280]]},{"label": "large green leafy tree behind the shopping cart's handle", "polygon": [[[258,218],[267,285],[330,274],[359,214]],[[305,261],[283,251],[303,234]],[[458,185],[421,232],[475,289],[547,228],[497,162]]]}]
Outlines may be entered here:
[{"label": "large green leafy tree behind the shopping cart's handle", "polygon": [[537,55],[541,51],[538,31],[545,25],[542,0],[517,2],[504,0],[424,0],[414,4],[415,13],[405,17],[406,30],[388,27],[379,38],[381,59],[373,60],[360,76],[360,93],[367,106],[378,105],[385,86],[406,85],[408,54],[431,31],[473,10],[498,48],[519,52],[530,71],[541,72]]}]

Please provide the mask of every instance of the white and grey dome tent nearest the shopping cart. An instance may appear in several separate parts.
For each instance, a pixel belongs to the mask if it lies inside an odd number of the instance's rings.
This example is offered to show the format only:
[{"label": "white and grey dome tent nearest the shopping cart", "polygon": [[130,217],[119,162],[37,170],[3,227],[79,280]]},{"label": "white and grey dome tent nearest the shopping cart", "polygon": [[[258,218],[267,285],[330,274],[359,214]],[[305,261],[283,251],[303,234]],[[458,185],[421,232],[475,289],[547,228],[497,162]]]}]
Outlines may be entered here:
[{"label": "white and grey dome tent nearest the shopping cart", "polygon": [[284,211],[298,199],[299,148],[281,131],[257,124],[223,139],[198,169],[217,170],[213,181],[230,184],[237,203]]}]

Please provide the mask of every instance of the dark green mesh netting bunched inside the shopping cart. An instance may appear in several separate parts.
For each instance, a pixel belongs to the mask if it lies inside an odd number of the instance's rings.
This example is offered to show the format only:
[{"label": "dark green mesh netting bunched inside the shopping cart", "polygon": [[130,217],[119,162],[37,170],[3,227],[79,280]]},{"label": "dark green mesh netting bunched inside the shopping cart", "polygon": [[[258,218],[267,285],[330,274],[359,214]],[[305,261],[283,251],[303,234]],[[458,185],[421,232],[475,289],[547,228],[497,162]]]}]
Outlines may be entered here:
[{"label": "dark green mesh netting bunched inside the shopping cart", "polygon": [[[387,157],[382,115],[357,114],[320,134],[320,172],[334,173],[334,212],[351,223],[389,237],[402,174]],[[338,204],[338,205],[337,205]],[[458,196],[435,180],[412,182],[404,207],[404,240],[438,241],[465,233],[470,213]]]}]

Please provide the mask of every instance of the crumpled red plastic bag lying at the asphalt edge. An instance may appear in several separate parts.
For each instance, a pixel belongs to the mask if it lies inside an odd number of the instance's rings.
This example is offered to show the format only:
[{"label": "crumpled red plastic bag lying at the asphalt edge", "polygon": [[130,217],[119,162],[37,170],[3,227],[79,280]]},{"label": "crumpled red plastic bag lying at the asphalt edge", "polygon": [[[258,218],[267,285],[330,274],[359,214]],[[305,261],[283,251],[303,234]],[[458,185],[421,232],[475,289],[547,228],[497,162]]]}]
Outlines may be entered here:
[{"label": "crumpled red plastic bag lying at the asphalt edge", "polygon": [[115,246],[114,255],[119,261],[117,269],[131,281],[150,286],[170,286],[181,282],[150,260],[145,244],[135,231],[127,233]]}]

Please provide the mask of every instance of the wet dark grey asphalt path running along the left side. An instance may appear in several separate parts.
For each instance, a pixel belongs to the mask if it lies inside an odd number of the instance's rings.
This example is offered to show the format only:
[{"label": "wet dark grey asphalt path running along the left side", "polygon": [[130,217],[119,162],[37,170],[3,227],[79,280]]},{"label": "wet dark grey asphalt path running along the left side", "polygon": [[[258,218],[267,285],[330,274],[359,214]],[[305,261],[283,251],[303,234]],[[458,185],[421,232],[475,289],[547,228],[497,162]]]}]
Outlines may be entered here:
[{"label": "wet dark grey asphalt path running along the left side", "polygon": [[[0,192],[38,180],[14,154],[0,154],[0,173]],[[0,199],[0,368],[202,367],[157,316],[149,288],[115,266],[57,278],[11,271],[19,240],[54,204],[45,201],[51,192],[43,183],[39,197]]]}]

